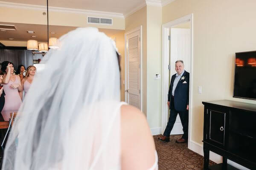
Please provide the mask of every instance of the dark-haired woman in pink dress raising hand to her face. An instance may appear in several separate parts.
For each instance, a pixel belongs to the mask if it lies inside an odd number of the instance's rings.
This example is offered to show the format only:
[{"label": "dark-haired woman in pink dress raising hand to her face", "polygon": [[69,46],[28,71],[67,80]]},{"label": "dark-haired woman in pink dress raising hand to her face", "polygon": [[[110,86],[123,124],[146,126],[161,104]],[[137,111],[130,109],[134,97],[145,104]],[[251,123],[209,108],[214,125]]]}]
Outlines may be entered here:
[{"label": "dark-haired woman in pink dress raising hand to her face", "polygon": [[3,71],[3,90],[5,91],[5,104],[3,106],[3,119],[9,121],[10,113],[17,112],[21,105],[19,91],[22,91],[20,77],[15,75],[12,62],[2,62],[1,71]]}]

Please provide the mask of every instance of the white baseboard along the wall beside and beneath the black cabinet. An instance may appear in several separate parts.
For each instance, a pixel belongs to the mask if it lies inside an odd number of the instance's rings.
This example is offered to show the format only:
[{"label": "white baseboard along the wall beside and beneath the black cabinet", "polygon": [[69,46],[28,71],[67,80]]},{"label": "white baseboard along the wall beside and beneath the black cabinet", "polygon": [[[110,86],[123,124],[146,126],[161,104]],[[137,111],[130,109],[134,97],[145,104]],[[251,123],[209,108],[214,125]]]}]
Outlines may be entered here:
[{"label": "white baseboard along the wall beside and beneath the black cabinet", "polygon": [[[202,144],[199,144],[199,143],[191,140],[189,149],[194,151],[195,153],[200,154],[201,156],[204,156],[204,150],[203,150]],[[214,161],[217,164],[222,163],[222,156],[219,156],[217,153],[214,153],[211,151],[210,151],[209,159],[211,161]],[[236,162],[230,161],[229,159],[227,160],[227,163],[232,165],[233,167],[238,168],[239,170],[250,170],[246,167],[241,166],[240,164],[237,164]]]}]

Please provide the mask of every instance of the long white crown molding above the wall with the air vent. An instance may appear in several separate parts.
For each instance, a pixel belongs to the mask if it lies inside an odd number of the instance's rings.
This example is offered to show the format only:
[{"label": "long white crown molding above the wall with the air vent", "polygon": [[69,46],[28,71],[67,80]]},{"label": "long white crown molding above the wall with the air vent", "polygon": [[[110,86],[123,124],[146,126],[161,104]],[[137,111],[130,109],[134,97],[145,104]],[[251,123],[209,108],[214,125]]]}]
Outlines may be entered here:
[{"label": "long white crown molding above the wall with the air vent", "polygon": [[[9,3],[9,2],[4,2],[4,1],[0,1],[0,7],[23,8],[23,9],[41,10],[41,11],[46,10],[46,6],[30,5],[30,4],[23,4],[23,3]],[[67,13],[75,13],[75,14],[101,15],[101,16],[104,16],[104,17],[124,18],[124,15],[120,14],[120,13],[105,12],[105,11],[92,11],[92,10],[75,9],[75,8],[62,8],[62,7],[49,6],[49,11],[67,12]]]}]

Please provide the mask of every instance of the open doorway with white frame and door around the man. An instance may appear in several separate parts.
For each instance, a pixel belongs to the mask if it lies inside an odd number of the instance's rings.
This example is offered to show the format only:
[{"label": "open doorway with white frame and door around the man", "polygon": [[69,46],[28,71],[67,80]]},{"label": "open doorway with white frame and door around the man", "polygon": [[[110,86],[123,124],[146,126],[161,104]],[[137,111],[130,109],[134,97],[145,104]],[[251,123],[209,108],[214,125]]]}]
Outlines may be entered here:
[{"label": "open doorway with white frame and door around the man", "polygon": [[[184,69],[190,73],[189,81],[189,130],[188,147],[191,141],[191,114],[192,114],[192,59],[193,59],[193,15],[187,15],[169,23],[163,24],[163,58],[162,58],[162,122],[161,132],[163,134],[169,119],[168,101],[169,85],[172,75],[176,74],[175,62],[183,60]],[[175,125],[170,133],[183,134],[182,124],[177,116]]]}]

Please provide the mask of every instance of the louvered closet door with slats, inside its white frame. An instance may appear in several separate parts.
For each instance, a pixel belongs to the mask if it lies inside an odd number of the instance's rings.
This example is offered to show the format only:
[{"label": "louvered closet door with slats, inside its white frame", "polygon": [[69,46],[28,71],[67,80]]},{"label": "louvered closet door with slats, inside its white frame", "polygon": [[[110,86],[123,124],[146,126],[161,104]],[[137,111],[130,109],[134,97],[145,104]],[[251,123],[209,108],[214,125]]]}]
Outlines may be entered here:
[{"label": "louvered closet door with slats, inside its white frame", "polygon": [[141,110],[140,30],[126,34],[125,102]]}]

